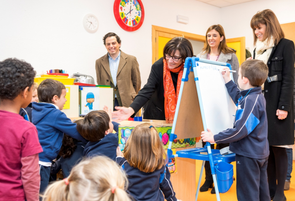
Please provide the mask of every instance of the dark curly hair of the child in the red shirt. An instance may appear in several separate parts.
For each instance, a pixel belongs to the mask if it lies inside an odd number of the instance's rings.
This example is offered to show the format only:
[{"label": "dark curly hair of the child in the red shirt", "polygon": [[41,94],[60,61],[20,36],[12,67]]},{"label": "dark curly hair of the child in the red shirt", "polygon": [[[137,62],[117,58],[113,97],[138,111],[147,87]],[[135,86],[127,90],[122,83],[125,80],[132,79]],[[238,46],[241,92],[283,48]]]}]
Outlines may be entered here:
[{"label": "dark curly hair of the child in the red shirt", "polygon": [[0,62],[0,99],[14,100],[34,83],[36,72],[31,65],[16,58]]}]

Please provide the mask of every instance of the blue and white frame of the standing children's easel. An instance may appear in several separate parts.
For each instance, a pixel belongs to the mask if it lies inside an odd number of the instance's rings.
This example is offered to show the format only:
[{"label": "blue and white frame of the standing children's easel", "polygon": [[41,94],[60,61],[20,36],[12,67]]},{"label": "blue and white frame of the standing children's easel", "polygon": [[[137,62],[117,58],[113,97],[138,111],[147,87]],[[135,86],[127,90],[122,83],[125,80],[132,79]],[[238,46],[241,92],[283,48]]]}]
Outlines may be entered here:
[{"label": "blue and white frame of the standing children's easel", "polygon": [[[174,133],[175,133],[175,127],[176,127],[176,123],[177,123],[177,116],[178,116],[180,101],[181,101],[181,97],[182,97],[183,86],[184,86],[184,82],[188,81],[188,75],[189,75],[190,71],[194,72],[194,77],[195,77],[195,83],[196,83],[197,93],[198,93],[198,97],[199,97],[199,104],[200,104],[200,109],[201,109],[203,126],[204,126],[204,130],[207,131],[207,124],[206,124],[205,113],[204,113],[204,108],[203,108],[202,96],[201,96],[201,92],[200,92],[200,85],[199,85],[199,78],[198,78],[198,73],[197,73],[196,62],[202,62],[202,63],[207,63],[207,64],[213,64],[213,65],[218,65],[218,66],[229,67],[232,70],[231,65],[228,64],[228,63],[215,62],[215,61],[211,61],[211,60],[207,60],[207,59],[200,59],[198,57],[188,57],[188,58],[185,59],[183,75],[182,75],[182,79],[181,79],[181,85],[180,85],[180,90],[179,90],[179,95],[178,95],[178,100],[177,100],[176,112],[175,112],[175,116],[174,116],[174,122],[173,122],[173,126],[172,126],[172,131],[171,131],[171,134],[170,134],[169,145],[168,145],[168,150],[167,150],[167,155],[168,155],[169,161],[171,160],[171,158],[174,158],[174,157],[192,158],[192,157],[188,156],[188,153],[183,153],[183,152],[182,152],[181,155],[179,154],[179,156],[177,154],[173,155],[172,150],[171,150],[172,142],[173,142],[174,139],[177,138],[177,135],[174,134]],[[233,80],[233,73],[232,72],[231,72],[231,78]],[[235,156],[233,155],[232,157],[228,157],[228,158],[226,158],[226,157],[219,157],[219,158],[214,157],[215,160],[213,160],[210,143],[206,142],[206,146],[207,146],[207,152],[208,152],[208,156],[206,156],[206,158],[208,158],[208,161],[210,163],[211,173],[212,173],[213,182],[214,182],[214,188],[215,188],[215,192],[216,192],[216,198],[217,198],[217,201],[220,201],[214,163],[216,164],[216,162],[220,162],[220,161],[233,162],[233,161],[235,161],[235,159],[233,159],[233,157],[235,157]],[[206,148],[206,146],[205,146],[205,148]],[[198,148],[196,148],[196,149],[198,149]],[[191,149],[191,150],[195,151],[195,149]],[[186,149],[185,151],[189,151],[189,150]],[[201,185],[201,178],[202,178],[202,174],[203,174],[203,170],[204,170],[204,166],[205,166],[205,161],[207,161],[207,159],[202,159],[202,158],[204,158],[204,156],[203,157],[192,158],[192,159],[197,159],[197,160],[203,160],[202,168],[201,168],[201,172],[200,172],[200,178],[199,178],[198,187],[197,187],[197,192],[196,192],[196,201],[197,201],[198,195],[199,195],[199,189],[200,189],[200,185]]]}]

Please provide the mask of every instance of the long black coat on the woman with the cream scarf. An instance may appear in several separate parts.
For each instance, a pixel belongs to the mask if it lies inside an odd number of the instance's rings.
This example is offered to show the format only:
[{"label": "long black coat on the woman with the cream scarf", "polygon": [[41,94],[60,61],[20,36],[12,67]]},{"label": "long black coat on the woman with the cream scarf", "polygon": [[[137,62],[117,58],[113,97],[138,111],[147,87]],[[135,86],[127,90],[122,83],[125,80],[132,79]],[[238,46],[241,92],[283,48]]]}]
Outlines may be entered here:
[{"label": "long black coat on the woman with the cream scarf", "polygon": [[[254,56],[255,59],[255,50]],[[278,81],[264,85],[266,115],[268,122],[268,143],[270,146],[294,144],[294,42],[282,38],[273,47],[267,61],[268,76],[278,75]],[[279,120],[276,110],[288,111],[287,118]]]}]

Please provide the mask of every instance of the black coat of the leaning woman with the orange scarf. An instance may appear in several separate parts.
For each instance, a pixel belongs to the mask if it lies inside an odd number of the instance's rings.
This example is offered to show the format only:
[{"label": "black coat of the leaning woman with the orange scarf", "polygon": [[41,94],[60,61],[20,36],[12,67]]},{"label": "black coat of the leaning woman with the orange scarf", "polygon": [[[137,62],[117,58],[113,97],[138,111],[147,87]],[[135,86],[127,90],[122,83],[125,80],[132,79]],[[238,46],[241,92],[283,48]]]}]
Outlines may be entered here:
[{"label": "black coat of the leaning woman with the orange scarf", "polygon": [[[144,107],[144,119],[165,120],[163,67],[163,58],[151,66],[148,83],[138,92],[130,105],[134,109],[131,117]],[[178,74],[171,72],[171,77],[176,90]]]}]

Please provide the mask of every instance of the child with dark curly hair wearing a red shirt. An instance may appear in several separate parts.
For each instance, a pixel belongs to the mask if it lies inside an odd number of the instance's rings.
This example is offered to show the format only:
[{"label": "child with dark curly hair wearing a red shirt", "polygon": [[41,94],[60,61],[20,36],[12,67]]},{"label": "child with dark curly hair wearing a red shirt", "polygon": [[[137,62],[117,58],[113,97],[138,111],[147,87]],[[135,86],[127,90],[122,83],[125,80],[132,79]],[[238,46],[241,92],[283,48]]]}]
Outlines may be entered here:
[{"label": "child with dark curly hair wearing a red shirt", "polygon": [[36,127],[19,115],[32,99],[35,71],[17,59],[0,62],[0,201],[39,200]]}]

